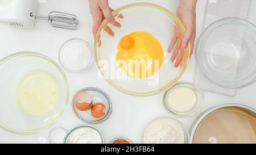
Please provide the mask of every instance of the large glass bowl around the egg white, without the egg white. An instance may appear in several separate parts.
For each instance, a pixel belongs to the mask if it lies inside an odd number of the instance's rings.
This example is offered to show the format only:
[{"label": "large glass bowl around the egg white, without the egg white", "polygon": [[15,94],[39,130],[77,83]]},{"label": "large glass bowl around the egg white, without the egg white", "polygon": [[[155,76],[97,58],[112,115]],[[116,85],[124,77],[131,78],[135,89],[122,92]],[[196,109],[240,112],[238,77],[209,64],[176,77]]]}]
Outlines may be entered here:
[{"label": "large glass bowl around the egg white, without the egg white", "polygon": [[[59,99],[53,110],[43,115],[23,112],[16,100],[20,78],[34,70],[50,74],[59,86]],[[19,135],[42,131],[56,122],[68,103],[68,83],[62,69],[50,58],[35,52],[19,52],[0,61],[0,127]]]}]

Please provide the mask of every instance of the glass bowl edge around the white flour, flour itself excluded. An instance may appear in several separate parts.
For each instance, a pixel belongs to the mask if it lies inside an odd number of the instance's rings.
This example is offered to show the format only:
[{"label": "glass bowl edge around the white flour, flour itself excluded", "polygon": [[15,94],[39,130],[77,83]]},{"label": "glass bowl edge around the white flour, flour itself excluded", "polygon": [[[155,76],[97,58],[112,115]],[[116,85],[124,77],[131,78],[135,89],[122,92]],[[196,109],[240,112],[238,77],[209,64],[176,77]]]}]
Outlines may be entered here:
[{"label": "glass bowl edge around the white flour, flour itself excluded", "polygon": [[183,129],[183,132],[184,132],[184,144],[188,144],[188,143],[189,143],[190,136],[189,136],[188,129],[187,129],[179,120],[177,120],[177,119],[175,119],[175,118],[163,116],[163,117],[160,117],[160,118],[156,118],[156,119],[151,120],[151,121],[146,125],[146,128],[144,128],[144,131],[143,131],[143,133],[142,133],[142,138],[141,138],[142,144],[144,144],[144,133],[146,132],[148,126],[149,126],[151,123],[155,122],[156,120],[160,120],[160,119],[172,119],[172,120],[175,120],[177,123],[179,123],[179,125],[181,126],[181,128]]}]

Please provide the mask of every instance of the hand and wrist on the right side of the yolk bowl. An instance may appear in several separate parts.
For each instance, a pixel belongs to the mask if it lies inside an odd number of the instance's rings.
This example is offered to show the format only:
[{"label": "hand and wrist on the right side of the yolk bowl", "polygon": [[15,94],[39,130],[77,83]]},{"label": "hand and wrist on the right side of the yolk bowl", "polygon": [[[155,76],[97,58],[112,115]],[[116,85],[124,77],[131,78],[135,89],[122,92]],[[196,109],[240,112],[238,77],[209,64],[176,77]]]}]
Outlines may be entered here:
[{"label": "hand and wrist on the right side of the yolk bowl", "polygon": [[[179,65],[183,66],[185,59],[185,49],[188,44],[191,45],[191,55],[193,53],[193,48],[195,44],[196,37],[196,0],[180,0],[180,5],[177,9],[176,15],[180,18],[181,22],[186,28],[185,35],[182,35],[179,29],[175,28],[175,35],[172,38],[168,52],[174,49],[171,61],[175,61],[175,67]],[[191,56],[190,55],[190,56]]]}]

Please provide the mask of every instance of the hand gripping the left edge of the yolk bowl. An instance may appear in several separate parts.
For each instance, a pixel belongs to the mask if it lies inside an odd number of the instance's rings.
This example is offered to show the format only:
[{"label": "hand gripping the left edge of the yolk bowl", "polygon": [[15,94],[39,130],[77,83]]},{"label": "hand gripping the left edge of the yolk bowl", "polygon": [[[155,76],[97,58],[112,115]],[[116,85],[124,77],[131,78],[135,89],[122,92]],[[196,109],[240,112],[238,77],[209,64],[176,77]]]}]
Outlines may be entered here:
[{"label": "hand gripping the left edge of the yolk bowl", "polygon": [[[90,13],[93,16],[93,36],[96,37],[98,28],[104,19],[108,20],[110,24],[113,24],[116,27],[121,27],[121,24],[115,22],[115,18],[112,15],[114,11],[109,7],[108,0],[89,0],[90,4]],[[114,36],[114,32],[107,26],[104,28],[109,35]]]}]

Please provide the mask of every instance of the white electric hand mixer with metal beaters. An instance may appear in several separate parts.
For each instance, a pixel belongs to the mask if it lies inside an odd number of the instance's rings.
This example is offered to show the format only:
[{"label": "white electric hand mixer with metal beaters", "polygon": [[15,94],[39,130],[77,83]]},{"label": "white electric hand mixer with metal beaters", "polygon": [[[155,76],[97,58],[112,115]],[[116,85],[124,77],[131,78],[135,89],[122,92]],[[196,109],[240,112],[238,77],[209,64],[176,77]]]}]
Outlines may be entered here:
[{"label": "white electric hand mixer with metal beaters", "polygon": [[37,0],[0,0],[0,23],[13,27],[32,28],[35,19],[47,20],[53,27],[76,30],[76,15],[52,11],[48,16],[37,15]]}]

